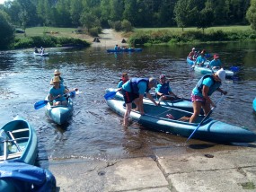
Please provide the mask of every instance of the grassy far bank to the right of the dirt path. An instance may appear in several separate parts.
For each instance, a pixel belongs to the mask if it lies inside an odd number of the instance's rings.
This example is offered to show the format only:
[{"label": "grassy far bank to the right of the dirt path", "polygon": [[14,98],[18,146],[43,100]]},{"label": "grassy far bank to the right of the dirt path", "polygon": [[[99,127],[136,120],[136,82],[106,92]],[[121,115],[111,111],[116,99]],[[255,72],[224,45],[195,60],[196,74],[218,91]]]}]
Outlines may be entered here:
[{"label": "grassy far bank to the right of the dirt path", "polygon": [[205,31],[197,28],[149,28],[135,29],[129,37],[132,45],[152,45],[152,44],[184,44],[201,42],[223,42],[255,40],[256,31],[252,31],[250,26],[228,26],[212,27]]}]

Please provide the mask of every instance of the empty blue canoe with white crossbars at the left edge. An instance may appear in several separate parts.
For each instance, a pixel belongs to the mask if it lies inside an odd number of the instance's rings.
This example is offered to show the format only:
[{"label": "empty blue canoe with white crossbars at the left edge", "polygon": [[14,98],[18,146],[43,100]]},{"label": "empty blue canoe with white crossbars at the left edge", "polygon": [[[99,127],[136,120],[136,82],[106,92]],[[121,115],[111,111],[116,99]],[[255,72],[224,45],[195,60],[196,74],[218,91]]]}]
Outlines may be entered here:
[{"label": "empty blue canoe with white crossbars at the left edge", "polygon": [[0,129],[0,142],[0,161],[35,163],[38,154],[37,135],[23,118],[16,117]]}]

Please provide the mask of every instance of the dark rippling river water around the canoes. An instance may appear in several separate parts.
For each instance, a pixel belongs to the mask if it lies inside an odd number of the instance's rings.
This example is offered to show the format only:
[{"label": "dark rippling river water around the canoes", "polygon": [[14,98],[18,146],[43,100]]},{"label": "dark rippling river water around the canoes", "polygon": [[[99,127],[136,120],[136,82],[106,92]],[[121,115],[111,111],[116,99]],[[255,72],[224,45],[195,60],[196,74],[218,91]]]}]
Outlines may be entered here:
[{"label": "dark rippling river water around the canoes", "polygon": [[[256,115],[252,100],[256,96],[255,43],[200,45],[209,53],[218,53],[226,68],[240,66],[234,79],[223,89],[228,92],[212,118],[248,127],[256,132]],[[105,47],[86,49],[47,48],[49,57],[35,57],[32,49],[0,52],[1,123],[4,126],[16,115],[27,119],[39,139],[39,160],[81,158],[112,160],[154,155],[154,150],[189,153],[191,151],[233,149],[248,144],[211,144],[176,135],[154,132],[137,123],[124,129],[122,118],[114,114],[103,100],[106,88],[114,88],[122,72],[130,76],[158,77],[166,74],[172,91],[190,98],[190,92],[201,74],[191,71],[186,57],[191,46],[154,46],[139,53],[109,54]],[[45,116],[44,109],[33,109],[44,100],[55,69],[60,69],[69,88],[80,92],[74,99],[72,120],[57,126]],[[219,93],[213,100],[220,98]],[[194,147],[192,147],[194,146]],[[195,147],[197,146],[197,147]]]}]

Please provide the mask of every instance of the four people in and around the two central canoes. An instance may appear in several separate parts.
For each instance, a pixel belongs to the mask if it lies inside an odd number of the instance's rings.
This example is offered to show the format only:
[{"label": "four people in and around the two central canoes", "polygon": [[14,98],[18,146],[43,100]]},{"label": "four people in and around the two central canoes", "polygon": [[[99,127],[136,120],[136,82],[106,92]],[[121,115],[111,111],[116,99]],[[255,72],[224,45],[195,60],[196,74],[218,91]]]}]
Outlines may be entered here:
[{"label": "four people in and around the two central canoes", "polygon": [[[202,76],[191,92],[191,101],[193,102],[193,114],[190,117],[190,123],[194,123],[199,117],[200,110],[203,109],[207,115],[211,106],[216,107],[210,96],[213,92],[221,92],[226,94],[220,86],[225,81],[225,70],[219,69],[214,74],[206,74]],[[164,74],[159,77],[159,83],[154,77],[150,78],[131,78],[127,73],[121,75],[118,84],[117,92],[122,92],[126,104],[126,112],[124,114],[123,126],[128,127],[128,117],[132,109],[132,103],[137,106],[137,111],[144,115],[143,98],[151,100],[155,106],[159,106],[160,102],[156,102],[153,96],[149,93],[152,88],[155,88],[156,98],[159,100],[176,100],[179,97],[172,92],[169,82]]]}]

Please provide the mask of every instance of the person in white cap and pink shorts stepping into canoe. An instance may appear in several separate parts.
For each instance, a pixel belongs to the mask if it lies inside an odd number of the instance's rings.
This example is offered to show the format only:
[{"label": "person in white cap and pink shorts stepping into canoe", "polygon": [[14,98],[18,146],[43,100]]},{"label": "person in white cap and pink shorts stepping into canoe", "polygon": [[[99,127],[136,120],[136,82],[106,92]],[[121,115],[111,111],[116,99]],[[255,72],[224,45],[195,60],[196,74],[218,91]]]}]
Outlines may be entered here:
[{"label": "person in white cap and pink shorts stepping into canoe", "polygon": [[202,76],[195,88],[191,93],[191,100],[193,102],[193,114],[190,118],[190,123],[196,121],[199,117],[201,108],[204,110],[205,115],[212,107],[216,107],[214,102],[210,99],[213,92],[221,92],[226,94],[220,86],[225,82],[225,70],[220,69],[215,74],[206,74]]}]

